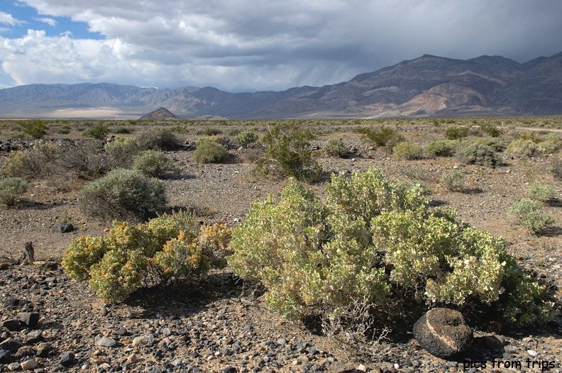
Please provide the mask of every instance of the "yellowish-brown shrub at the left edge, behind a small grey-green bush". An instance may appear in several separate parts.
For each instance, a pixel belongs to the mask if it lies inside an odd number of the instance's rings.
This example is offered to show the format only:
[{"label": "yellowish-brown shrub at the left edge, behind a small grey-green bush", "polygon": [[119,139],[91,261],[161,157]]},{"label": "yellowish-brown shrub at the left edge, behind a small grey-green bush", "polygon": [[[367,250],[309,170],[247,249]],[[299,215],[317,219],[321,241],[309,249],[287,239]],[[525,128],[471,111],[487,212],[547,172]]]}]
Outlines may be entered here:
[{"label": "yellowish-brown shrub at the left edge, behind a small grey-green bush", "polygon": [[10,159],[2,167],[2,173],[26,179],[52,174],[60,154],[57,144],[39,140],[31,149],[11,153]]}]

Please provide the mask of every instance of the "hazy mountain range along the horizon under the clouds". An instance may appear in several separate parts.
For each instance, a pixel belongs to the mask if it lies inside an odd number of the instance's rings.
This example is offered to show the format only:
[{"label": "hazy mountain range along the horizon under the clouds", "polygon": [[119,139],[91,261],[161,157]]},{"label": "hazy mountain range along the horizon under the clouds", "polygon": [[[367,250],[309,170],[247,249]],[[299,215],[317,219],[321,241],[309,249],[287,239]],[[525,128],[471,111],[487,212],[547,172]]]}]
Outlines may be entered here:
[{"label": "hazy mountain range along the horizon under the clouds", "polygon": [[500,56],[424,55],[349,82],[230,93],[109,83],[0,89],[1,118],[138,118],[160,107],[182,118],[392,118],[562,114],[562,52],[520,64]]}]

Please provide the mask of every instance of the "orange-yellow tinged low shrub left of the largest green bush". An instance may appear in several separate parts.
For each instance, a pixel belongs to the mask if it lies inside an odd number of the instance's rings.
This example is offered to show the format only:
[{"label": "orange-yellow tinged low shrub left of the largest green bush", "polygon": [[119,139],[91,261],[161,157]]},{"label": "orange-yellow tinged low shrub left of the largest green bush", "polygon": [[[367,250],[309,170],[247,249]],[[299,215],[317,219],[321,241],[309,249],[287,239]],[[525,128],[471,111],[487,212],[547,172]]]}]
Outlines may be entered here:
[{"label": "orange-yellow tinged low shrub left of the largest green bush", "polygon": [[100,298],[123,301],[140,286],[187,282],[223,265],[208,245],[199,245],[204,235],[184,212],[138,226],[116,221],[107,237],[72,241],[62,267],[72,279],[88,282]]}]

